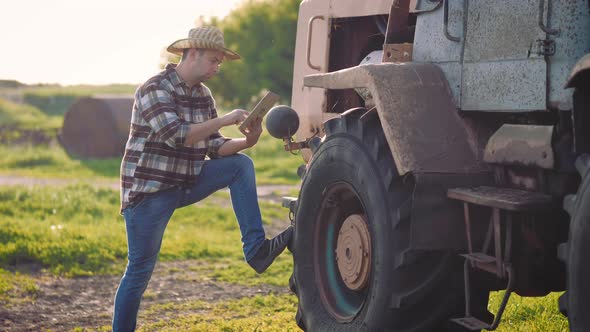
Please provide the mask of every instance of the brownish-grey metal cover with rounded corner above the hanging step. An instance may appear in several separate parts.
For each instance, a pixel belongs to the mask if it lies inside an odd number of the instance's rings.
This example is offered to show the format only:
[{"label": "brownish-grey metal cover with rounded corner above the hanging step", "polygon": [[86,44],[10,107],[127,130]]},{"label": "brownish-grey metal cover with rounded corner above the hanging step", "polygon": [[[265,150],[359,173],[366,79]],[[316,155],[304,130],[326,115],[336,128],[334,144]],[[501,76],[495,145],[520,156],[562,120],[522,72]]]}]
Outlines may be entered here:
[{"label": "brownish-grey metal cover with rounded corner above the hanging step", "polygon": [[552,169],[552,137],[553,126],[505,124],[490,137],[484,161]]}]

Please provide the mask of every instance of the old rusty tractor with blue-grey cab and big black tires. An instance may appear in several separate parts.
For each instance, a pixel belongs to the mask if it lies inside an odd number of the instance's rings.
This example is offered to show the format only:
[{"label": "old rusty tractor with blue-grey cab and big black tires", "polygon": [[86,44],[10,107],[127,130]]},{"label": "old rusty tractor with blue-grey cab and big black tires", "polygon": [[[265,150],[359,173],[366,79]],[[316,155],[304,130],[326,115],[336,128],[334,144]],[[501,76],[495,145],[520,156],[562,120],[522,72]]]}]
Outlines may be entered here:
[{"label": "old rusty tractor with blue-grey cab and big black tires", "polygon": [[565,291],[590,331],[586,112],[588,0],[302,1],[291,105],[267,116],[304,160],[298,325],[494,330],[512,293]]}]

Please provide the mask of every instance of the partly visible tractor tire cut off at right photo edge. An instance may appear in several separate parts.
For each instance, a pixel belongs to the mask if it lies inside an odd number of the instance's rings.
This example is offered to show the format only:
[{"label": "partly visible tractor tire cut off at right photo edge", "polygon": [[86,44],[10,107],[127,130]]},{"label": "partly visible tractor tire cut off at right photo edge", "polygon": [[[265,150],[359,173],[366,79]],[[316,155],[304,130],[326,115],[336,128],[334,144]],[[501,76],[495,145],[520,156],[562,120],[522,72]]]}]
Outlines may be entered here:
[{"label": "partly visible tractor tire cut off at right photo edge", "polygon": [[590,331],[590,155],[576,160],[582,181],[575,195],[565,197],[563,206],[571,216],[568,242],[558,249],[567,271],[566,292],[559,298],[559,309],[568,317],[570,331]]}]

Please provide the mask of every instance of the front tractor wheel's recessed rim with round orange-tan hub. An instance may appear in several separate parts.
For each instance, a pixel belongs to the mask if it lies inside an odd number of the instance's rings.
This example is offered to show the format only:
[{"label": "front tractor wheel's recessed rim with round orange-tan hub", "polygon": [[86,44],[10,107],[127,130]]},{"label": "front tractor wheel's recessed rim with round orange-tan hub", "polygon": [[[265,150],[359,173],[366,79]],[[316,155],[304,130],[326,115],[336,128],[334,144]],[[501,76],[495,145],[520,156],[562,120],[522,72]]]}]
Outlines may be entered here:
[{"label": "front tractor wheel's recessed rim with round orange-tan hub", "polygon": [[314,226],[314,271],[324,308],[338,322],[361,311],[371,271],[371,237],[361,200],[347,183],[326,188]]}]

